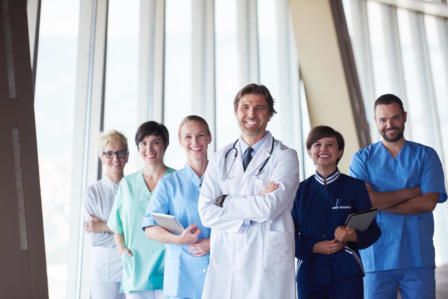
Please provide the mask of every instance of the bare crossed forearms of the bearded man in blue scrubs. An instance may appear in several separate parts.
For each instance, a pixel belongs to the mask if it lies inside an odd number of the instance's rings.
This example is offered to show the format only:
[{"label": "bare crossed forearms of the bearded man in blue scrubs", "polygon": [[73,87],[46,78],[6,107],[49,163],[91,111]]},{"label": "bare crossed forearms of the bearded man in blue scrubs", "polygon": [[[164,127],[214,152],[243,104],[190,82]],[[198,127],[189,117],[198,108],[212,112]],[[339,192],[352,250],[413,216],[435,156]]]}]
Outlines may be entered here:
[{"label": "bare crossed forearms of the bearded man in blue scrubs", "polygon": [[420,187],[405,188],[396,191],[375,192],[366,183],[372,206],[395,214],[419,214],[435,209],[439,193],[421,193]]}]

